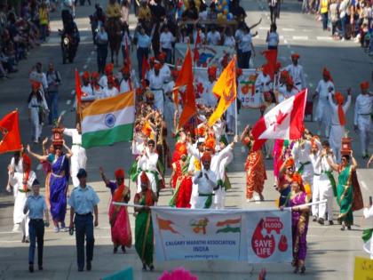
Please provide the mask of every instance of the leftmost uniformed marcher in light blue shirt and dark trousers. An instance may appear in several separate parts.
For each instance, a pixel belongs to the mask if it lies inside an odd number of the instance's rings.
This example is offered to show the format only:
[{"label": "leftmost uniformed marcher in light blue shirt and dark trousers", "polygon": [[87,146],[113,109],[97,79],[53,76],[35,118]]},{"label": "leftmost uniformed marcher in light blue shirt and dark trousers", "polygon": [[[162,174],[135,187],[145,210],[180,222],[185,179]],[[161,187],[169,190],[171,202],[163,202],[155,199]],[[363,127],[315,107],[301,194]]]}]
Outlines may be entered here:
[{"label": "leftmost uniformed marcher in light blue shirt and dark trousers", "polygon": [[[39,270],[43,270],[43,245],[44,227],[49,227],[48,208],[43,195],[40,195],[40,183],[35,179],[32,183],[32,196],[28,196],[23,213],[30,219],[28,223],[28,233],[30,237],[30,247],[28,249],[28,270],[34,272],[34,258],[37,241],[37,265]],[[45,215],[45,220],[43,217]]]}]

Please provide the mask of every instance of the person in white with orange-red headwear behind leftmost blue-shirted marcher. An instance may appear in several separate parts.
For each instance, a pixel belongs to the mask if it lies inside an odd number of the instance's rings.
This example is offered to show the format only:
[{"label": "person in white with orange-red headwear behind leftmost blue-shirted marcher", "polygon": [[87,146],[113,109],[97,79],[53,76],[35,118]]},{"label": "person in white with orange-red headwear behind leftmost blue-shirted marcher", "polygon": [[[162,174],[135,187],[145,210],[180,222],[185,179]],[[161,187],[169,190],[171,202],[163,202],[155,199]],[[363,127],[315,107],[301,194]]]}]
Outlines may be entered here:
[{"label": "person in white with orange-red headwear behind leftmost blue-shirted marcher", "polygon": [[14,184],[14,212],[13,220],[14,225],[19,224],[22,232],[22,243],[28,243],[28,212],[24,213],[23,209],[25,207],[29,192],[31,191],[32,183],[36,180],[36,173],[31,170],[31,159],[28,155],[22,155],[22,172],[15,172],[15,170],[10,166],[9,170],[12,180],[16,182]]}]

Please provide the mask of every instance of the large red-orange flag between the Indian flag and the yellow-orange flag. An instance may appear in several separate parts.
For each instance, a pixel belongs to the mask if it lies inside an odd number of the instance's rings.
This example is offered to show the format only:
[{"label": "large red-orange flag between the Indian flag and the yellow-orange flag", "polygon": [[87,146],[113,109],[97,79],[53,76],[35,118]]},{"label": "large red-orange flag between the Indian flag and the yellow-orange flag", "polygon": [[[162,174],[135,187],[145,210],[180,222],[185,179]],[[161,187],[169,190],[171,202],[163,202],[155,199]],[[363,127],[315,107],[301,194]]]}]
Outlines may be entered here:
[{"label": "large red-orange flag between the Indian flag and the yellow-orange flag", "polygon": [[187,90],[182,96],[183,100],[183,112],[179,117],[179,128],[182,127],[187,121],[195,115],[195,95],[193,86],[193,69],[192,69],[192,54],[189,47],[187,48],[186,58],[184,60],[183,66],[180,69],[178,79],[175,82],[174,90],[174,101],[178,108],[179,104],[179,87],[187,85]]}]

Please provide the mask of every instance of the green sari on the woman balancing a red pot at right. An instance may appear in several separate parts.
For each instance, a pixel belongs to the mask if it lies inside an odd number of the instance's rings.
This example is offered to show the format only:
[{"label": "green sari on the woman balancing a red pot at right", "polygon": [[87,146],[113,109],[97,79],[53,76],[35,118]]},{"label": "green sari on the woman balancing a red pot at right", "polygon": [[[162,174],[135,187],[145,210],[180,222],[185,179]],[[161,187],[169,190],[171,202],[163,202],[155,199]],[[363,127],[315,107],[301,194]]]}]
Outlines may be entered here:
[{"label": "green sari on the woman balancing a red pot at right", "polygon": [[337,185],[338,220],[345,221],[346,226],[353,225],[353,183],[351,164],[339,172]]}]

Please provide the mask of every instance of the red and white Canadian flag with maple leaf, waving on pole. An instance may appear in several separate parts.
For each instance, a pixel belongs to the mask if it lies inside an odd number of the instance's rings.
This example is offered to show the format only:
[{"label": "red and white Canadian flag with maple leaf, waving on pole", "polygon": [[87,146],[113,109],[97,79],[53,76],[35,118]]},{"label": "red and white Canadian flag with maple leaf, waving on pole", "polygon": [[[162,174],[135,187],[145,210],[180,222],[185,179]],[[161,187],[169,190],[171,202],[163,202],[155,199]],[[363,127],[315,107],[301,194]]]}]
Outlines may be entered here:
[{"label": "red and white Canadian flag with maple leaf, waving on pole", "polygon": [[267,139],[298,140],[305,130],[307,89],[280,104],[262,116],[251,130],[254,137],[253,151],[263,146]]}]

